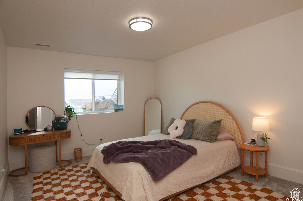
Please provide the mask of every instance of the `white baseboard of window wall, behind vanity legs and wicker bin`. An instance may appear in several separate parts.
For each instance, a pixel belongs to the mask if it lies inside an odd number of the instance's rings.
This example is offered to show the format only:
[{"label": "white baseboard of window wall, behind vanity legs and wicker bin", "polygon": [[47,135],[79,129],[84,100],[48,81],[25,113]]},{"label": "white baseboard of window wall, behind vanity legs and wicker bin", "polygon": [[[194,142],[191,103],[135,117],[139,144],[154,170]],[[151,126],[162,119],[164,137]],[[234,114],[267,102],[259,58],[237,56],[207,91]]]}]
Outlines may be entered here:
[{"label": "white baseboard of window wall, behind vanity legs and wicker bin", "polygon": [[[82,157],[91,156],[94,153],[96,147],[90,147],[90,148],[82,149]],[[67,152],[61,152],[61,159],[62,160],[69,160],[69,159],[74,159],[74,158],[75,158],[74,150],[67,151]],[[9,162],[9,166],[11,167],[12,170],[24,167],[24,164],[25,164],[24,159]]]}]

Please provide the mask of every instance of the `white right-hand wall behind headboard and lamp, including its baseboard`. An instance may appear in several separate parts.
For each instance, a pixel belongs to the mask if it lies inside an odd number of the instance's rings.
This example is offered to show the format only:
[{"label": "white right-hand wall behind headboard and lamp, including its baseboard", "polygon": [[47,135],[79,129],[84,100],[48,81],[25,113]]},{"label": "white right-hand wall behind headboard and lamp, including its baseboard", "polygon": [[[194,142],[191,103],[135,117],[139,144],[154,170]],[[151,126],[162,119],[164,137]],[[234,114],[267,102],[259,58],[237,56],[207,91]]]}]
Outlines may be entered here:
[{"label": "white right-hand wall behind headboard and lamp, including its baseboard", "polygon": [[162,129],[203,100],[228,108],[245,141],[252,118],[269,117],[269,175],[303,183],[302,21],[303,9],[156,61]]}]

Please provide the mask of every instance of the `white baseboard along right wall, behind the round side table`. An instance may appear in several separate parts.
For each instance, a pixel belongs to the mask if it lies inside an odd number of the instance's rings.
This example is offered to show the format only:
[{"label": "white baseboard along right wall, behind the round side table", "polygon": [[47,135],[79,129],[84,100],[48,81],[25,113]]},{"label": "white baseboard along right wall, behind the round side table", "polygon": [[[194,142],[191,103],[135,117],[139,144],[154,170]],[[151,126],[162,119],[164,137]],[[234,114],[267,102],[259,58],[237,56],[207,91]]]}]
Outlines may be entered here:
[{"label": "white baseboard along right wall, behind the round side table", "polygon": [[[244,158],[244,165],[250,165],[250,158]],[[253,160],[253,165],[255,165],[255,160]],[[259,167],[264,168],[264,164],[261,161],[259,161]],[[303,184],[302,170],[268,163],[268,175]]]}]

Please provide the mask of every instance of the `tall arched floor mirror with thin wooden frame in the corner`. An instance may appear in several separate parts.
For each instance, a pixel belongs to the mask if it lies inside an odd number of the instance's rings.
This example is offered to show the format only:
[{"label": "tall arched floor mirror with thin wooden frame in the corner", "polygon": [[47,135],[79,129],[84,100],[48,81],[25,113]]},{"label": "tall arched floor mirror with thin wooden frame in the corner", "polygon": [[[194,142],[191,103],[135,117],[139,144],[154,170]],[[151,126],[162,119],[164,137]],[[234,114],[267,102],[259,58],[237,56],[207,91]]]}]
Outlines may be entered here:
[{"label": "tall arched floor mirror with thin wooden frame in the corner", "polygon": [[162,104],[157,98],[150,98],[144,106],[144,135],[161,133]]}]

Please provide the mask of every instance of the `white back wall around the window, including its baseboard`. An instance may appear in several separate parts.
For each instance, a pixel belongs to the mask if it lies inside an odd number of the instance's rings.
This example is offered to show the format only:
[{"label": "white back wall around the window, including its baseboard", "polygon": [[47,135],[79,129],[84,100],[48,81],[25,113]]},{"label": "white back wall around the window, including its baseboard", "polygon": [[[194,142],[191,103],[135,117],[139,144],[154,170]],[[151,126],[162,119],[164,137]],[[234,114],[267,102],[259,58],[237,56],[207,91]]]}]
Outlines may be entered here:
[{"label": "white back wall around the window, including its baseboard", "polygon": [[[50,107],[55,114],[64,113],[64,68],[124,73],[124,112],[78,115],[87,143],[98,144],[100,138],[105,143],[144,135],[144,103],[154,96],[153,62],[15,47],[8,47],[7,52],[8,130],[27,128],[25,114],[35,106]],[[72,117],[68,128],[72,129],[72,137],[62,140],[62,159],[74,158],[73,150],[77,147],[82,148],[82,156],[92,155],[96,146],[81,140],[76,117]],[[41,143],[28,148],[38,145]],[[11,147],[12,168],[24,166],[24,146]]]}]

